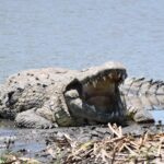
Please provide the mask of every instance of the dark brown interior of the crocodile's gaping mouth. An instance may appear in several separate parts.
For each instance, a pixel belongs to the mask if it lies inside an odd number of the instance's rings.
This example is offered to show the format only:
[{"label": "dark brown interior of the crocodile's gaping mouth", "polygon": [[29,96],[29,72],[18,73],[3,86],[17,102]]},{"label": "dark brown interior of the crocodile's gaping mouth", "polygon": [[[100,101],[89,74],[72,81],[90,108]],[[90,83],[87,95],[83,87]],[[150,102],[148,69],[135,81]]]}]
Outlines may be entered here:
[{"label": "dark brown interior of the crocodile's gaping mouth", "polygon": [[[82,99],[101,113],[114,113],[121,108],[118,85],[124,81],[121,70],[110,70],[98,74],[95,79],[83,84]],[[118,115],[114,113],[114,115]]]}]

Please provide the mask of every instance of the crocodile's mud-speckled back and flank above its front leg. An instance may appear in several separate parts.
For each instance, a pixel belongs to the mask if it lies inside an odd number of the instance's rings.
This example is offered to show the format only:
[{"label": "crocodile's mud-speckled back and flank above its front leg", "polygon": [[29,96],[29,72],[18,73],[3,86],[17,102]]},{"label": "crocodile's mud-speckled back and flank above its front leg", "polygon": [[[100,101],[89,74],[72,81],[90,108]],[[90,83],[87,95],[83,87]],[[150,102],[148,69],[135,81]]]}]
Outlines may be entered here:
[{"label": "crocodile's mud-speckled back and flank above its front leg", "polygon": [[16,113],[39,108],[56,94],[61,94],[75,71],[46,68],[22,71],[1,85],[0,116],[14,117]]}]

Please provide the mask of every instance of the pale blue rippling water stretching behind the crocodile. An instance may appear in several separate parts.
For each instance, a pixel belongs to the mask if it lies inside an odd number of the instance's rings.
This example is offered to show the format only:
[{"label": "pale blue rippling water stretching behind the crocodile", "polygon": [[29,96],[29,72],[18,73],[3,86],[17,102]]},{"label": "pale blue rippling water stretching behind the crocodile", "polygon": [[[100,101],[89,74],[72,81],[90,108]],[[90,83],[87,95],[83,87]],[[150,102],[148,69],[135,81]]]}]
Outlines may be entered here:
[{"label": "pale blue rippling water stretching behind the crocodile", "polygon": [[107,60],[163,79],[163,0],[0,0],[0,81],[23,69]]}]

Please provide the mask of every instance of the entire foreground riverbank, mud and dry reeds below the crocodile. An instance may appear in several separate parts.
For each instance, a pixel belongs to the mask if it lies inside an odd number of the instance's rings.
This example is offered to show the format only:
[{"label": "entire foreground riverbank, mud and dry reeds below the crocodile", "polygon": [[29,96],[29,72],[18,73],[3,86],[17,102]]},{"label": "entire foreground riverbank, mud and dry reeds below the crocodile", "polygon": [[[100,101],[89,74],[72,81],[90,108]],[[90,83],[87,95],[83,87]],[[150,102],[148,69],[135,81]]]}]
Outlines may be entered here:
[{"label": "entire foreground riverbank, mud and dry reeds below the crocodile", "polygon": [[163,160],[164,126],[161,125],[14,129],[1,131],[0,137],[1,160],[10,156],[11,161],[22,160],[22,163],[28,159],[35,160],[30,163],[107,163],[114,160],[117,163],[128,160],[140,163]]}]

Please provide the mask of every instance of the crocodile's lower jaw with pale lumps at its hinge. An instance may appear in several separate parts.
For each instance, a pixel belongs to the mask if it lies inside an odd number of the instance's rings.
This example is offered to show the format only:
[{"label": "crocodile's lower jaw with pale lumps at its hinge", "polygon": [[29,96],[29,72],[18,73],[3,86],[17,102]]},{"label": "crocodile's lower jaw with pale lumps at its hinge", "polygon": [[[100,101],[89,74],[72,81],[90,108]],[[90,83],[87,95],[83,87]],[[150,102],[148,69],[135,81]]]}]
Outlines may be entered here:
[{"label": "crocodile's lower jaw with pale lumps at its hinge", "polygon": [[78,96],[77,90],[66,92],[65,97],[69,107],[70,114],[79,120],[87,120],[87,122],[117,122],[122,124],[125,120],[125,108],[120,104],[115,109],[108,109],[103,112],[94,105],[89,105],[82,98]]}]

